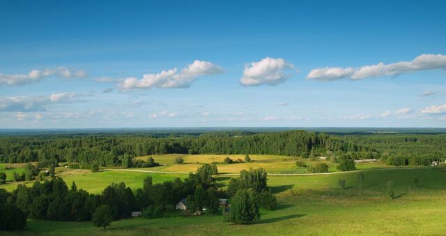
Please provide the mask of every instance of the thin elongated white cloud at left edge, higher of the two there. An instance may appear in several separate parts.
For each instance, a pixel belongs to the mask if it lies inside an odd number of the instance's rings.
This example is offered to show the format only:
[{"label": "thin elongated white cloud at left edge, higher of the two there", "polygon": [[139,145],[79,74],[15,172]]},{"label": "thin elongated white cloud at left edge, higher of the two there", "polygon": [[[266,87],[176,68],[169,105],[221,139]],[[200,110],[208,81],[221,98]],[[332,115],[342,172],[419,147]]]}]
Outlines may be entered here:
[{"label": "thin elongated white cloud at left edge, higher of the two there", "polygon": [[32,70],[27,74],[5,75],[0,73],[0,87],[3,86],[3,84],[18,86],[36,83],[40,82],[40,80],[43,80],[44,78],[52,76],[58,78],[84,78],[86,76],[86,72],[82,70],[70,70],[65,67],[58,67],[44,70]]}]

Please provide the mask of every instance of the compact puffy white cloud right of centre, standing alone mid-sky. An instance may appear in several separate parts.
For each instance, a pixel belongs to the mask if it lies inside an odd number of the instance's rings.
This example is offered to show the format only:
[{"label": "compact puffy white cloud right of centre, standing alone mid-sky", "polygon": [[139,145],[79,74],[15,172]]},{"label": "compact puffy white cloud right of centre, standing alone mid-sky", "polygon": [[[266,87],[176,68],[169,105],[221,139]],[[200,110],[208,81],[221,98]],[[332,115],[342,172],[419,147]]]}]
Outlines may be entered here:
[{"label": "compact puffy white cloud right of centre, standing alone mid-sky", "polygon": [[245,66],[240,84],[245,87],[280,84],[290,78],[290,75],[286,75],[284,71],[291,68],[294,68],[293,64],[282,58],[266,57]]}]

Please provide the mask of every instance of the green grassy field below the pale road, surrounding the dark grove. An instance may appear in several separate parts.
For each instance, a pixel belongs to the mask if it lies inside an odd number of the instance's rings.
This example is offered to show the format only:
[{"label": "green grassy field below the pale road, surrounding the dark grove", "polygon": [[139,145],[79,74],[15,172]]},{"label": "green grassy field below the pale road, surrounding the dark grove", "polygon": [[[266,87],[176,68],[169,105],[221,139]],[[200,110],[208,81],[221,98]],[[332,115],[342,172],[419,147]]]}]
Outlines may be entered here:
[{"label": "green grassy field below the pale road, surrounding the dark grove", "polygon": [[[155,182],[175,177],[142,174],[105,171],[67,175],[64,179],[101,179],[95,181],[100,185],[119,178],[134,188],[146,175],[153,176]],[[91,222],[29,221],[26,230],[17,235],[441,235],[446,232],[446,172],[430,168],[367,170],[361,189],[357,175],[357,172],[342,172],[268,177],[279,206],[273,211],[262,210],[261,221],[250,226],[225,223],[224,216],[127,219],[112,222],[107,230],[93,228]],[[224,184],[229,178],[220,176],[217,181]],[[337,186],[340,178],[346,179],[344,190]],[[420,180],[417,187],[413,184],[415,178]],[[97,186],[76,181],[78,187],[98,192]],[[387,196],[387,181],[394,183],[397,199]]]}]

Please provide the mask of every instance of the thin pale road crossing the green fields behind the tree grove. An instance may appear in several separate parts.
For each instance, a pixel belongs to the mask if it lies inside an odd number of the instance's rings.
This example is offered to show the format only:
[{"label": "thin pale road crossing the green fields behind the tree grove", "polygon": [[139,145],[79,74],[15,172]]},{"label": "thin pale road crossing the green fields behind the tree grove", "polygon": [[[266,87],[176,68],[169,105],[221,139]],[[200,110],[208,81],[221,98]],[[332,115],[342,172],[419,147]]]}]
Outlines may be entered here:
[{"label": "thin pale road crossing the green fields behind the tree grove", "polygon": [[[375,168],[375,169],[367,169],[367,170],[351,170],[346,171],[348,173],[353,172],[365,172],[370,170],[410,170],[410,169],[426,169],[429,167],[403,167],[403,168]],[[159,173],[159,174],[183,174],[187,175],[189,172],[170,172],[170,171],[159,171],[159,170],[134,170],[134,169],[105,169],[104,171],[130,171],[130,172],[146,172],[146,173]],[[306,176],[306,175],[336,175],[345,173],[342,171],[339,172],[328,172],[328,173],[307,173],[307,174],[268,174],[268,176]],[[238,176],[240,174],[236,173],[223,173],[223,174],[217,174],[217,175],[232,175],[232,176]]]}]

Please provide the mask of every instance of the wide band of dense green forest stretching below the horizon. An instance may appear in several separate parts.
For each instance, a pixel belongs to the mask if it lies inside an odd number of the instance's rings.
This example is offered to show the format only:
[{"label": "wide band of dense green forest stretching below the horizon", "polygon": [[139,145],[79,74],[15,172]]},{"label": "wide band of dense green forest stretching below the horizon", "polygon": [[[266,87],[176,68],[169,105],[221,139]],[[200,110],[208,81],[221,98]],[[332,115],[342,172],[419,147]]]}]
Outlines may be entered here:
[{"label": "wide band of dense green forest stretching below the horizon", "polygon": [[446,135],[328,135],[308,131],[250,133],[210,132],[197,135],[103,133],[4,136],[0,162],[38,161],[45,167],[59,162],[121,165],[133,156],[151,154],[277,154],[351,158],[446,157]]}]

